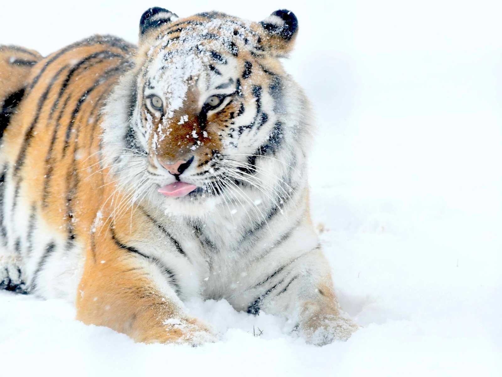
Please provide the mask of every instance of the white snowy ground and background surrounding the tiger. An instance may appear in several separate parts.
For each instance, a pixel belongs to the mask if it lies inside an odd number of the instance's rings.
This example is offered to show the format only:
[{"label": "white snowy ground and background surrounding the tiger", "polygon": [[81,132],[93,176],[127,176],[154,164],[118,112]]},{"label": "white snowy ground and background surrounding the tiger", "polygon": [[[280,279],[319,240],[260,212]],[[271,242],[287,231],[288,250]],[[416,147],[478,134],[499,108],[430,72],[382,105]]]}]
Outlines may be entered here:
[{"label": "white snowy ground and background surrounding the tiger", "polygon": [[285,65],[319,124],[313,216],[363,328],[318,348],[279,318],[192,302],[221,342],[145,345],[64,302],[0,292],[2,375],[502,375],[502,3],[10,1],[0,43],[44,55],[94,33],[136,43],[150,6],[297,15]]}]

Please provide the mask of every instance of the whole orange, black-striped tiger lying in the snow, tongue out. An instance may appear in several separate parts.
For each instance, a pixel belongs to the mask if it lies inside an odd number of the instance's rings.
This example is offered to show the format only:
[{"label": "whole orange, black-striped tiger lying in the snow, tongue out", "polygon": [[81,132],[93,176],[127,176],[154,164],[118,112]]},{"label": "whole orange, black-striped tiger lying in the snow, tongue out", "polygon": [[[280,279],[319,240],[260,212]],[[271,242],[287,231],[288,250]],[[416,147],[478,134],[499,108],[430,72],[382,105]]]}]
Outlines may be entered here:
[{"label": "whole orange, black-striped tiger lying in the snow, tongue out", "polygon": [[280,60],[297,34],[288,10],[154,7],[137,46],[1,46],[2,288],[137,342],[218,341],[193,298],[348,339],[310,216],[311,105]]}]

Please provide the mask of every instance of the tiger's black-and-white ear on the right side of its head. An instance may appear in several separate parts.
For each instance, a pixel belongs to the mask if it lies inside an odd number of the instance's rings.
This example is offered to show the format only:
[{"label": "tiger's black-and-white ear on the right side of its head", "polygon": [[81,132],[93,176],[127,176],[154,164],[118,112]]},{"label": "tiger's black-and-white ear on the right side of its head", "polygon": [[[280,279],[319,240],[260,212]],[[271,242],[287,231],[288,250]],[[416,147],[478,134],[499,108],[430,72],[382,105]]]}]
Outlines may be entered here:
[{"label": "tiger's black-and-white ear on the right side of its head", "polygon": [[265,39],[261,44],[274,55],[286,55],[293,49],[298,31],[298,19],[293,12],[286,9],[275,11],[260,25],[265,32]]}]

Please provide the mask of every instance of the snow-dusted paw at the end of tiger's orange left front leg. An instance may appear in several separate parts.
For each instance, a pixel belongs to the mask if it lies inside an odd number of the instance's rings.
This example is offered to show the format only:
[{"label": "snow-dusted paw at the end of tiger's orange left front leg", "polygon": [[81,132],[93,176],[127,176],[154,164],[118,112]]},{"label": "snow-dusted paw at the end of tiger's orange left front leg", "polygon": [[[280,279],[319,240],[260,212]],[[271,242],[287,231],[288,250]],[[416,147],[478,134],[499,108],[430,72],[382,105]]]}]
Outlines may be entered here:
[{"label": "snow-dusted paw at the end of tiger's orange left front leg", "polygon": [[190,344],[194,347],[205,343],[214,343],[216,336],[201,322],[191,319],[170,318],[164,322],[168,343]]}]

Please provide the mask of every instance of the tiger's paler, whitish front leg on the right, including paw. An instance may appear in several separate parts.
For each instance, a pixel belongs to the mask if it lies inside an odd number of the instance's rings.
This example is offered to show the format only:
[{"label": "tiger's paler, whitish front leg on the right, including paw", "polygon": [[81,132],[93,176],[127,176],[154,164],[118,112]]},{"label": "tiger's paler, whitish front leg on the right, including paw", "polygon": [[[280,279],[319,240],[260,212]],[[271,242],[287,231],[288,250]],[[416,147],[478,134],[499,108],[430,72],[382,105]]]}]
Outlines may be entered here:
[{"label": "tiger's paler, whitish front leg on the right, including paw", "polygon": [[320,247],[285,262],[250,289],[256,299],[248,313],[285,316],[308,343],[347,340],[358,326],[340,309]]}]

